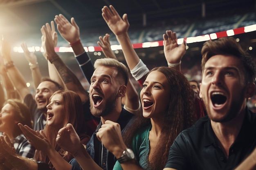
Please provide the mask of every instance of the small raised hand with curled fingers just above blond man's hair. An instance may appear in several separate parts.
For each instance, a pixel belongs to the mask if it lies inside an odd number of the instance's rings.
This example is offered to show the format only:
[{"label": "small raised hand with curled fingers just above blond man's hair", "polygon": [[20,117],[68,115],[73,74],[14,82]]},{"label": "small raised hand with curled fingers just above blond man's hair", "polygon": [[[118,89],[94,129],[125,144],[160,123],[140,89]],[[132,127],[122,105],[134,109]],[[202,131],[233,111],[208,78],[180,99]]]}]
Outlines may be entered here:
[{"label": "small raised hand with curled fingers just above blond man's hair", "polygon": [[101,42],[98,41],[97,44],[101,47],[104,55],[107,58],[113,58],[113,59],[117,60],[116,55],[111,50],[109,37],[110,37],[110,35],[108,33],[103,38],[101,36],[99,36],[99,40]]}]

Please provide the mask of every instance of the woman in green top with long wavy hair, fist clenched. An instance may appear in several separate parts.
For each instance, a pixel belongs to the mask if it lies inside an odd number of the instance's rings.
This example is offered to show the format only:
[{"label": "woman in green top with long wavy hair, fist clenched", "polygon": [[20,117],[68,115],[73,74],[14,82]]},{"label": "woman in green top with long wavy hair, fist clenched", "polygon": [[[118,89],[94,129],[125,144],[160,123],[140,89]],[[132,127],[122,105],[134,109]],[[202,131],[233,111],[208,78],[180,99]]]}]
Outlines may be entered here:
[{"label": "woman in green top with long wavy hair, fist clenched", "polygon": [[[143,83],[140,97],[143,113],[126,126],[124,141],[117,130],[118,124],[111,121],[106,121],[97,133],[103,145],[117,157],[114,170],[162,170],[174,139],[195,122],[193,91],[179,71],[163,66],[153,68]],[[123,158],[127,148],[133,150],[137,163],[132,157]]]}]

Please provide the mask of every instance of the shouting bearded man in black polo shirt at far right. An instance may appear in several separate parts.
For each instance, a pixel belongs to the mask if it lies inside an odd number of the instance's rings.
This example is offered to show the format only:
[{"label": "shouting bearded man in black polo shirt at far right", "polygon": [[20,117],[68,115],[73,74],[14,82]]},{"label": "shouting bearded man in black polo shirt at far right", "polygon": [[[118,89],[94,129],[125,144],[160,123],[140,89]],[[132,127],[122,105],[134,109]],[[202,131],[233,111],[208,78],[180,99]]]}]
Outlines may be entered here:
[{"label": "shouting bearded man in black polo shirt at far right", "polygon": [[255,63],[234,38],[202,47],[200,97],[208,116],[184,130],[164,170],[231,170],[256,146],[256,114],[246,106],[255,92]]}]

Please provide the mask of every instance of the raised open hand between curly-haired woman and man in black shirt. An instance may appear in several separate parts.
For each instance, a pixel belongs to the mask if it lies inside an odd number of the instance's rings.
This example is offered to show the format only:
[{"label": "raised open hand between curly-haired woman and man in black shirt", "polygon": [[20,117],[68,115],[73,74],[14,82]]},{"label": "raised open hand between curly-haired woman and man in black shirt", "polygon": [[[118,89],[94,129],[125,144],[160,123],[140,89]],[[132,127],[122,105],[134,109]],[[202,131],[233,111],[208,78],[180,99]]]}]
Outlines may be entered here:
[{"label": "raised open hand between curly-haired woman and man in black shirt", "polygon": [[171,30],[167,30],[163,34],[164,38],[164,56],[166,61],[171,64],[179,63],[186,53],[186,42],[184,41],[180,46],[177,44],[177,35]]}]

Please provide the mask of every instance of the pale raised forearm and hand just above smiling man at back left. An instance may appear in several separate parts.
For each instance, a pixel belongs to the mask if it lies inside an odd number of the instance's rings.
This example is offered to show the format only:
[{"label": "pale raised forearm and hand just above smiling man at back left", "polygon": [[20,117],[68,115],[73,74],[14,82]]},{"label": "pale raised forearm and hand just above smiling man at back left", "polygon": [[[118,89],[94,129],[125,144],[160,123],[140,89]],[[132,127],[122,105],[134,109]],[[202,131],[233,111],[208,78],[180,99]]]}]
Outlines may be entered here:
[{"label": "pale raised forearm and hand just above smiling man at back left", "polygon": [[30,71],[31,71],[32,78],[33,78],[33,81],[34,81],[34,86],[35,86],[35,88],[37,88],[37,86],[41,82],[42,75],[41,75],[39,67],[38,67],[36,54],[35,54],[35,52],[30,52],[28,50],[27,44],[25,42],[23,42],[21,44],[21,48],[24,51],[24,55],[25,55],[26,60],[29,62],[29,67],[30,67]]}]

